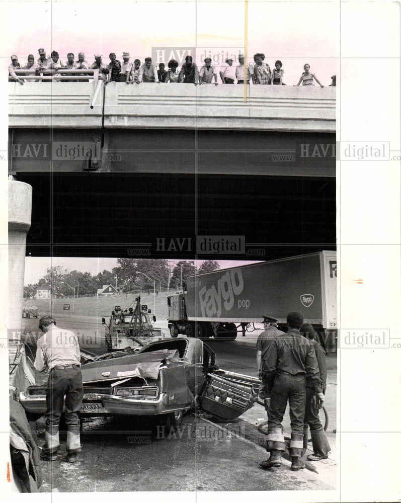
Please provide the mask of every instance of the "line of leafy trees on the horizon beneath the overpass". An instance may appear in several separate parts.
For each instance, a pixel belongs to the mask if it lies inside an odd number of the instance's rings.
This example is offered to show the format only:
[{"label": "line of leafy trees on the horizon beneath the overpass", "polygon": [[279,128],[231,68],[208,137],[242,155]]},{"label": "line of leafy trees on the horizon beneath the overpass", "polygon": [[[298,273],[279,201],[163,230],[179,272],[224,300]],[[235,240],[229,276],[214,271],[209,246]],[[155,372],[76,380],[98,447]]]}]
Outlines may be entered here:
[{"label": "line of leafy trees on the horizon beneath the overpass", "polygon": [[[93,295],[103,285],[117,285],[122,292],[136,289],[153,290],[153,281],[156,282],[156,290],[180,288],[187,277],[196,273],[207,273],[220,269],[215,260],[205,260],[199,268],[194,261],[179,261],[174,268],[169,266],[166,259],[118,259],[118,266],[111,271],[106,269],[92,276],[89,272],[67,271],[62,266],[54,266],[47,269],[46,274],[38,283],[24,287],[27,298],[35,297],[36,291],[50,288],[54,297],[69,297],[75,291],[75,295]],[[143,273],[143,274],[141,274]],[[145,276],[146,275],[146,276]]]}]

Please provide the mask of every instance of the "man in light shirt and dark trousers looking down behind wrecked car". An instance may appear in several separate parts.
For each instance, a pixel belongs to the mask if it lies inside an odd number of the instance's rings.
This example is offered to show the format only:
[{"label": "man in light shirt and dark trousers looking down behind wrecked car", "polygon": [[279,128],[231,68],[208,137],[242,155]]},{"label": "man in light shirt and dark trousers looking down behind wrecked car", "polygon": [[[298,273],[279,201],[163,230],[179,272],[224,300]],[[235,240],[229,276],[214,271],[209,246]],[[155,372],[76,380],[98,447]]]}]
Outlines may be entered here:
[{"label": "man in light shirt and dark trousers looking down behind wrecked car", "polygon": [[53,316],[42,316],[39,328],[43,336],[38,339],[35,369],[49,370],[46,389],[46,432],[43,458],[57,459],[60,448],[58,436],[60,417],[64,407],[67,424],[67,459],[76,461],[76,453],[81,451],[79,438],[79,417],[84,390],[81,373],[81,352],[74,332],[56,327]]}]

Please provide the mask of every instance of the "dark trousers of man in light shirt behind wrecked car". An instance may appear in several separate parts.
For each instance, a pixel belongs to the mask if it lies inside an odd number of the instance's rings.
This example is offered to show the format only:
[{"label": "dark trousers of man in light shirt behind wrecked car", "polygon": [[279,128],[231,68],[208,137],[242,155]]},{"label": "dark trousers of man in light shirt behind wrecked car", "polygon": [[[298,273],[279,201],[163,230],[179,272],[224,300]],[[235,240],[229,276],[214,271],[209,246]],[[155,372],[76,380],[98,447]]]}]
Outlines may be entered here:
[{"label": "dark trousers of man in light shirt behind wrecked car", "polygon": [[78,412],[81,409],[84,390],[79,368],[52,369],[46,389],[46,431],[58,432],[65,396],[65,422],[69,431],[79,432]]}]

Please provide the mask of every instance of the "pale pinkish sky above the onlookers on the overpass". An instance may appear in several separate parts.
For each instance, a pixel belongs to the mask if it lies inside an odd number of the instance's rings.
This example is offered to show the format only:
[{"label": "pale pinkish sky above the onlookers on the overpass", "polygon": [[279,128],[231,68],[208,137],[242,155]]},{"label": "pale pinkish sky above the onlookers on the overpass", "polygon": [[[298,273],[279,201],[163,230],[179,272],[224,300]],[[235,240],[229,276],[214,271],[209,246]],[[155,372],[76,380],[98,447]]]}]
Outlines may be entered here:
[{"label": "pale pinkish sky above the onlookers on the overpass", "polygon": [[[14,53],[20,62],[29,53],[38,57],[40,47],[48,54],[56,50],[62,60],[68,52],[77,56],[83,51],[89,62],[95,52],[105,61],[110,52],[121,59],[124,51],[143,60],[152,55],[152,47],[164,47],[166,54],[171,47],[196,47],[198,64],[210,51],[219,65],[227,52],[237,56],[245,46],[243,1],[28,0],[2,2],[0,9],[4,19],[18,20],[0,34],[7,64]],[[338,16],[339,2],[249,0],[247,53],[252,59],[263,52],[271,67],[281,60],[288,85],[297,83],[305,63],[328,85],[336,73]]]}]

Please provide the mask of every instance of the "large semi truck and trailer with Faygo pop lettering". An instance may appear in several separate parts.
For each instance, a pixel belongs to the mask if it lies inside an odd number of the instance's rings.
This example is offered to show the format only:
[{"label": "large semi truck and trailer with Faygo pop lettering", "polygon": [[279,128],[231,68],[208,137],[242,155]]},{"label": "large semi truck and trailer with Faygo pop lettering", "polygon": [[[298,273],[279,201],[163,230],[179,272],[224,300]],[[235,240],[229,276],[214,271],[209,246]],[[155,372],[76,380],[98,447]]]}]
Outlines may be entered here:
[{"label": "large semi truck and trailer with Faygo pop lettering", "polygon": [[287,314],[299,311],[327,341],[337,333],[336,251],[191,275],[168,307],[172,337],[233,340],[263,316],[284,326]]}]

